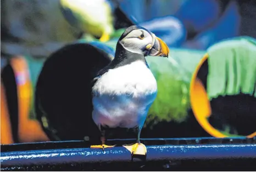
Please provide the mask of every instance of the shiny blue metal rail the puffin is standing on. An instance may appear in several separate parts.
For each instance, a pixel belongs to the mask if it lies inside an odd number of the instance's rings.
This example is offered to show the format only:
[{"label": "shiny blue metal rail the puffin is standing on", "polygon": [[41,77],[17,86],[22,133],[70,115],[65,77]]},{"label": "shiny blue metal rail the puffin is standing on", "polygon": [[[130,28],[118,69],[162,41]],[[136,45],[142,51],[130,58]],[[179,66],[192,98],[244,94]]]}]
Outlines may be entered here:
[{"label": "shiny blue metal rail the puffin is standing on", "polygon": [[[112,140],[112,142],[122,144],[126,140]],[[111,142],[111,140],[109,140]],[[133,141],[133,140],[130,140]],[[212,160],[218,161],[219,164],[225,165],[224,160],[233,161],[231,167],[235,167],[239,162],[247,165],[240,167],[248,168],[252,165],[256,168],[256,140],[246,139],[244,137],[233,138],[177,138],[177,139],[142,139],[147,143],[146,161],[135,157],[131,162],[131,153],[125,147],[116,146],[107,148],[105,151],[101,149],[92,149],[82,147],[84,141],[61,141],[61,142],[38,142],[28,144],[1,145],[1,170],[24,170],[31,168],[48,168],[63,167],[63,165],[71,164],[70,167],[77,167],[75,164],[82,164],[82,169],[97,169],[102,164],[110,164],[110,167],[118,164],[117,168],[123,168],[127,163],[134,166],[138,163],[147,164],[149,170],[150,165],[160,164],[164,162],[173,162],[175,160],[187,160],[194,164],[194,160],[201,160],[204,165],[205,161],[212,165]],[[160,143],[159,145],[152,145]],[[173,144],[170,144],[173,143]],[[79,147],[74,147],[74,146]],[[3,147],[3,149],[2,149]],[[25,149],[26,148],[26,149]],[[235,160],[238,160],[235,161]],[[250,161],[251,160],[251,161]],[[97,165],[95,165],[97,164]],[[160,167],[159,166],[159,167]],[[163,166],[163,165],[162,165]],[[238,164],[239,166],[239,164]],[[80,167],[80,166],[79,166]],[[102,168],[104,165],[102,166]],[[127,167],[131,167],[128,165]],[[207,166],[209,168],[209,166]],[[110,169],[111,169],[110,168]],[[126,168],[126,167],[125,167]],[[103,168],[102,170],[104,170]],[[137,169],[136,169],[137,170]],[[159,170],[159,169],[156,169]]]}]

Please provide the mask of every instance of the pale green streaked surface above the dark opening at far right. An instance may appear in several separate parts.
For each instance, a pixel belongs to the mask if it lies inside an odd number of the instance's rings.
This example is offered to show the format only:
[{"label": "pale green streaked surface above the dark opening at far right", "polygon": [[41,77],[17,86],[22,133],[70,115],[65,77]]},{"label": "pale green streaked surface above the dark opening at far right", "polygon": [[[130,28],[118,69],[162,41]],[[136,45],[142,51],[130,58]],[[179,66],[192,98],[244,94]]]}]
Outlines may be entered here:
[{"label": "pale green streaked surface above the dark opening at far right", "polygon": [[[237,37],[208,49],[207,94],[210,100],[220,95],[253,95],[256,85],[256,40]],[[254,93],[256,98],[256,93]]]}]

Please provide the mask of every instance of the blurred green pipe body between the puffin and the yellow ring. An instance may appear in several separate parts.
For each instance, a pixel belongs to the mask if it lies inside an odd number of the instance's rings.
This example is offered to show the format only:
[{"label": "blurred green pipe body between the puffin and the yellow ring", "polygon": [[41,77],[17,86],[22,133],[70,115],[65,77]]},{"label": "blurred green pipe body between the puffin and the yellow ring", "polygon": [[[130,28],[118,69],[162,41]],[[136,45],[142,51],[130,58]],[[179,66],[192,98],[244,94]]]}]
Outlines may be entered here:
[{"label": "blurred green pipe body between the puffin and the yellow ring", "polygon": [[168,59],[153,56],[146,58],[158,83],[158,95],[149,109],[146,125],[155,116],[158,121],[186,121],[191,108],[191,77],[204,54],[204,51],[170,48]]}]

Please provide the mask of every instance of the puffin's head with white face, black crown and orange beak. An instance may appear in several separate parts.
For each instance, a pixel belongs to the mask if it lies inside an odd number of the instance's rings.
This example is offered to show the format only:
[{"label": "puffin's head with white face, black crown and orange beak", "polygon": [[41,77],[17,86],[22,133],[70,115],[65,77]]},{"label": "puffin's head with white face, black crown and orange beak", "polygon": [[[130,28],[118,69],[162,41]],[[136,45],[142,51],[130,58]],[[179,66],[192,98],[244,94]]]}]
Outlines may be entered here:
[{"label": "puffin's head with white face, black crown and orange beak", "polygon": [[118,40],[124,49],[144,56],[168,57],[169,48],[151,31],[141,26],[128,27]]}]

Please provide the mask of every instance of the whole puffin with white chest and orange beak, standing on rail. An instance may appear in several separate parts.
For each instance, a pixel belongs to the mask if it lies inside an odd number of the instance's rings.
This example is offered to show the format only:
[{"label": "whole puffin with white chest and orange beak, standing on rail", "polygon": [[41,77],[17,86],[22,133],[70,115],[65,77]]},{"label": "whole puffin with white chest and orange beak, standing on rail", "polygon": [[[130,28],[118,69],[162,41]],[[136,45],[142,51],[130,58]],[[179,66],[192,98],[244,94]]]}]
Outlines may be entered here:
[{"label": "whole puffin with white chest and orange beak, standing on rail", "polygon": [[136,143],[123,145],[131,155],[146,156],[146,146],[140,134],[148,110],[157,96],[157,81],[146,56],[168,58],[169,48],[162,39],[141,26],[126,28],[116,44],[114,59],[99,70],[92,80],[92,119],[101,133],[101,145],[107,145],[105,133],[109,128],[133,129]]}]

